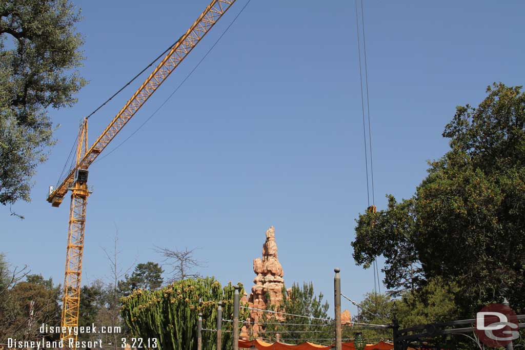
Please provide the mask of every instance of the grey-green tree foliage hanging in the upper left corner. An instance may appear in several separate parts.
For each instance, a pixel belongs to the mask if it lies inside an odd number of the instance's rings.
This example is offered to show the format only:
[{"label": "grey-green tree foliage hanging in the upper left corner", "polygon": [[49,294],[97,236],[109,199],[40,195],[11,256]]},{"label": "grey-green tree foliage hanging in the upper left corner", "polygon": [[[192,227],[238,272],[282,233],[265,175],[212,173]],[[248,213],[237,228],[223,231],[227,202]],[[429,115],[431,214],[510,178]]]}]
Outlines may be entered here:
[{"label": "grey-green tree foliage hanging in the upper left corner", "polygon": [[29,200],[31,178],[55,143],[50,108],[70,107],[86,81],[80,16],[67,0],[0,2],[0,203]]}]

